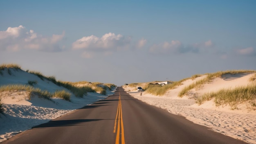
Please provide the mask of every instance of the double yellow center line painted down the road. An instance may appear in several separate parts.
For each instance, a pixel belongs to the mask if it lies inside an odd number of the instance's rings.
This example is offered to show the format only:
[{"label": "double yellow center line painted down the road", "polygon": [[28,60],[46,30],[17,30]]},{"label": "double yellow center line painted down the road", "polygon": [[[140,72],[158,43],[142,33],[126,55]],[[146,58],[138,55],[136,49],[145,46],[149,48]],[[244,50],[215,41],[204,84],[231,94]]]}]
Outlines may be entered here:
[{"label": "double yellow center line painted down the road", "polygon": [[[118,117],[118,118],[117,118]],[[118,120],[118,122],[117,122]],[[119,99],[118,99],[118,106],[117,106],[117,115],[115,118],[115,126],[114,126],[114,133],[116,133],[117,128],[117,137],[116,137],[116,144],[120,142],[120,123],[121,123],[121,144],[125,144],[124,142],[124,122],[123,122],[123,114],[122,114],[122,104],[121,104],[121,95],[119,92]]]}]

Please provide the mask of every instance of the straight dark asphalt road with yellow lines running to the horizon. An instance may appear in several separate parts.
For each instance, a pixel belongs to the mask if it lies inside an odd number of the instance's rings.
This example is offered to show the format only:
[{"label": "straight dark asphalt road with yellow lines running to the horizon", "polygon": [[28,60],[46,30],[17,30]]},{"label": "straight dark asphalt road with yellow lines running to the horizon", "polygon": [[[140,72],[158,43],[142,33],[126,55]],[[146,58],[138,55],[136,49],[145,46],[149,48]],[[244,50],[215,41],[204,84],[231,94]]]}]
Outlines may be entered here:
[{"label": "straight dark asphalt road with yellow lines running to the horizon", "polygon": [[246,144],[150,106],[114,95],[20,133],[2,144]]}]

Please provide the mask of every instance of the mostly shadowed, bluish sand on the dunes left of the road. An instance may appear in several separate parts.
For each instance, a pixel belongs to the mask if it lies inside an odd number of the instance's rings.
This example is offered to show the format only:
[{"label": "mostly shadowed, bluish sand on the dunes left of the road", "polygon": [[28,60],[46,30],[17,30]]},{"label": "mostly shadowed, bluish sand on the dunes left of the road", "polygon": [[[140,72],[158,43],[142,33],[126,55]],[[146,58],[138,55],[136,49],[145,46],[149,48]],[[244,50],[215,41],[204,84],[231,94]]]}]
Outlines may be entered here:
[{"label": "mostly shadowed, bluish sand on the dunes left of the road", "polygon": [[[38,81],[38,84],[34,87],[46,89],[49,92],[54,92],[56,89],[65,89],[51,81],[43,81],[38,76],[22,70],[11,69],[11,75],[8,74],[7,70],[2,72],[3,75],[0,74],[0,85],[26,84],[28,80],[31,80]],[[111,94],[114,94],[114,92],[107,91],[107,95]],[[71,102],[68,102],[60,98],[52,98],[52,101],[50,101],[38,98],[38,96],[33,96],[31,100],[28,100],[28,92],[25,91],[0,92],[0,96],[5,109],[4,115],[0,113],[0,142],[17,133],[31,129],[33,126],[48,122],[75,109],[108,97],[98,93],[88,93],[83,98],[77,98],[72,95]]]}]

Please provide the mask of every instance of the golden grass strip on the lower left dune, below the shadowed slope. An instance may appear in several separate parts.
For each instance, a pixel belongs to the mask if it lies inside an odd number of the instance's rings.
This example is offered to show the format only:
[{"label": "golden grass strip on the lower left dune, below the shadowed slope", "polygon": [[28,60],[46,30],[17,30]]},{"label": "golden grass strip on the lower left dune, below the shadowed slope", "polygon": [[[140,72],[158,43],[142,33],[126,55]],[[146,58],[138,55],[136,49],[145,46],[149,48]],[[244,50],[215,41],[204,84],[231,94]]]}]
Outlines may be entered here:
[{"label": "golden grass strip on the lower left dune, below the shadowed slope", "polygon": [[66,92],[65,90],[57,90],[53,94],[48,92],[47,90],[41,90],[39,88],[34,88],[30,85],[21,85],[21,84],[12,84],[12,85],[2,85],[0,87],[0,92],[4,91],[27,91],[29,92],[28,99],[31,100],[31,96],[38,95],[41,98],[45,98],[51,100],[52,97],[63,98],[64,100],[70,101],[70,92]]}]

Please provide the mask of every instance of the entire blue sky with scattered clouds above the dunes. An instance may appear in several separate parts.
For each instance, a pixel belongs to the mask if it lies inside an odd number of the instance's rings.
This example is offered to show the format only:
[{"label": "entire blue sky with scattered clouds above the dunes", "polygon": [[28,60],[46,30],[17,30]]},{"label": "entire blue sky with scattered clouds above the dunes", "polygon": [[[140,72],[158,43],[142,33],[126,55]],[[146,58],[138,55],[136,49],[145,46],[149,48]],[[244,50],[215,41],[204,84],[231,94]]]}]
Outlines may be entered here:
[{"label": "entire blue sky with scattered clouds above the dunes", "polygon": [[0,1],[0,62],[62,81],[256,70],[255,0]]}]

